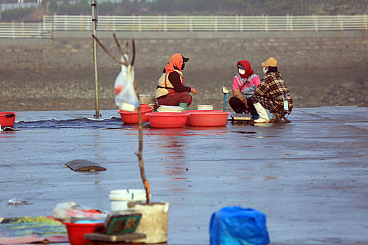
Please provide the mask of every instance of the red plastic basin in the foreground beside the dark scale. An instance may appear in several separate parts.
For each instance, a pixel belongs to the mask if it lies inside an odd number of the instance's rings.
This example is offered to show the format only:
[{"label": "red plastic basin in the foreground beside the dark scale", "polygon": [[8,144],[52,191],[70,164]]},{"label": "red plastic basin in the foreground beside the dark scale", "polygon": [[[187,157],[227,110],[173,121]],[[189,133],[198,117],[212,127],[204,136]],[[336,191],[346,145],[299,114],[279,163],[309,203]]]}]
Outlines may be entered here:
[{"label": "red plastic basin in the foreground beside the dark scale", "polygon": [[86,242],[90,241],[84,239],[85,234],[93,233],[97,225],[103,225],[104,223],[64,223],[67,226],[69,243],[71,245],[84,245]]}]

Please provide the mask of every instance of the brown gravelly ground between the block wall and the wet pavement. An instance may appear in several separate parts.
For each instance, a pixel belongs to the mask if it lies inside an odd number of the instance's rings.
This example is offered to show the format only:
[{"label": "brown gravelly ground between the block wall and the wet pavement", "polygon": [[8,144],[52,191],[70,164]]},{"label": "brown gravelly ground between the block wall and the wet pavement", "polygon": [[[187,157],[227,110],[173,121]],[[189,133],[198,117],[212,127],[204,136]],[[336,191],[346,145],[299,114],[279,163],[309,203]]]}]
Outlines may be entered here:
[{"label": "brown gravelly ground between the block wall and the wet pavement", "polygon": [[[284,69],[282,76],[294,98],[295,107],[368,105],[368,81],[365,69]],[[114,104],[114,81],[119,69],[100,69],[100,109],[117,109]],[[256,73],[262,77],[260,72]],[[161,69],[146,68],[135,71],[142,94],[154,94]],[[224,69],[184,70],[186,85],[199,93],[193,97],[191,109],[198,104],[212,104],[222,109],[222,85],[231,90],[233,67]],[[1,71],[0,111],[60,111],[95,109],[95,78],[93,69],[68,71]],[[227,95],[229,102],[231,94]],[[226,109],[231,109],[226,103]]]}]

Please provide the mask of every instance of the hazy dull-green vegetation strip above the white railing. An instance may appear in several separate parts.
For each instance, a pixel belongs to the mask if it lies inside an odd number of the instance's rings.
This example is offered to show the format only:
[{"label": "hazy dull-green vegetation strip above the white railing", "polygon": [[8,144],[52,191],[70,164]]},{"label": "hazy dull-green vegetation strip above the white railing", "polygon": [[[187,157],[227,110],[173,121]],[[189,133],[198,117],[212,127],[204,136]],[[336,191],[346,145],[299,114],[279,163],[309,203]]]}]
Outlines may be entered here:
[{"label": "hazy dull-green vegetation strip above the white railing", "polygon": [[[72,2],[72,3],[71,3]],[[46,3],[46,5],[44,5]],[[44,14],[90,15],[90,0],[45,0]],[[99,2],[100,15],[356,15],[367,0],[122,0]],[[29,10],[5,10],[1,21],[24,20]]]}]

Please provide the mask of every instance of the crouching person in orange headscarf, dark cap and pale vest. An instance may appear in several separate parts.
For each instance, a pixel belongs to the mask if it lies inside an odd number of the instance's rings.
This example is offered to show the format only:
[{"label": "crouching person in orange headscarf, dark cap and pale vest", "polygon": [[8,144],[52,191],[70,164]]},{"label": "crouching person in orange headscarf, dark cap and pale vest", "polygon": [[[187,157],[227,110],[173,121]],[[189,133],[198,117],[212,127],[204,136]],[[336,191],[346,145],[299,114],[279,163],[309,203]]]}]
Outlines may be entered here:
[{"label": "crouching person in orange headscarf, dark cap and pale vest", "polygon": [[189,92],[198,94],[193,87],[184,85],[183,69],[189,58],[177,53],[172,55],[170,62],[163,69],[163,74],[158,79],[156,99],[158,104],[165,106],[182,106],[186,110],[190,106],[192,97]]}]

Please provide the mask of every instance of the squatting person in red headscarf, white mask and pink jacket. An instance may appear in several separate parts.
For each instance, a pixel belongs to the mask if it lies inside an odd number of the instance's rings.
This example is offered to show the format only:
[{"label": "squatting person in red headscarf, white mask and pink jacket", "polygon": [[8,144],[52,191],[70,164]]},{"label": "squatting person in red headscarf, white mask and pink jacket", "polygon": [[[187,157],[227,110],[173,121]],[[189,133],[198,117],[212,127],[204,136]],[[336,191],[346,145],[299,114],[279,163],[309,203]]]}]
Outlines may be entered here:
[{"label": "squatting person in red headscarf, white mask and pink jacket", "polygon": [[252,114],[252,119],[259,118],[256,109],[252,104],[252,95],[254,90],[261,83],[259,76],[254,74],[250,62],[240,60],[236,63],[238,74],[233,78],[232,92],[233,97],[229,99],[229,104],[236,113]]}]

